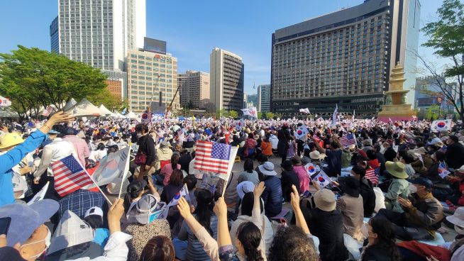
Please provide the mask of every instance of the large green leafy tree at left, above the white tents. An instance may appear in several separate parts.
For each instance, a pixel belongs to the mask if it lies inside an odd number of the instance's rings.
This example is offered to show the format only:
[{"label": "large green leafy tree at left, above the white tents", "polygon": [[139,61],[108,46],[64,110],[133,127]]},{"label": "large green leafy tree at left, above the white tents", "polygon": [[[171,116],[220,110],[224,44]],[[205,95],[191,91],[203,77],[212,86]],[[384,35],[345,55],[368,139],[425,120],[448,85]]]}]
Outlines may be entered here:
[{"label": "large green leafy tree at left, above the white tents", "polygon": [[0,94],[19,113],[38,113],[48,105],[62,109],[67,99],[100,96],[105,79],[99,69],[38,48],[18,45],[18,50],[0,54]]}]

